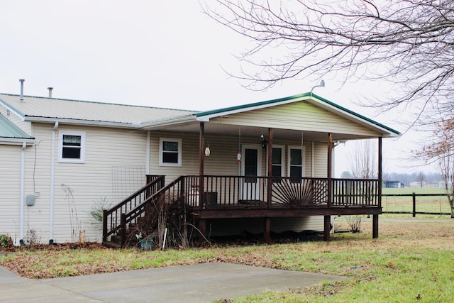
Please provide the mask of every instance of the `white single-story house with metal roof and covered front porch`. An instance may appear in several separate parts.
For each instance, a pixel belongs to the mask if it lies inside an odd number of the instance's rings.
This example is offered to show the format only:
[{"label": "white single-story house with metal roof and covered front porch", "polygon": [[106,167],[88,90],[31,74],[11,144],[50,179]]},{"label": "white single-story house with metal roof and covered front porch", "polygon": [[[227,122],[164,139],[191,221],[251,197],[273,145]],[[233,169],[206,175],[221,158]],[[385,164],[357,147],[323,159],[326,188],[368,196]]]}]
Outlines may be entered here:
[{"label": "white single-story house with metal roof and covered front porch", "polygon": [[[244,225],[238,228],[265,219],[265,225],[276,230],[323,230],[328,216],[353,213],[374,215],[378,227],[378,185],[377,200],[371,203],[347,200],[354,196],[351,192],[335,194],[340,187],[326,183],[330,185],[319,189],[319,202],[314,203],[311,192],[311,202],[304,197],[306,205],[291,213],[270,208],[288,204],[284,183],[279,183],[283,191],[278,197],[272,182],[255,182],[267,177],[331,182],[336,141],[377,138],[381,156],[382,138],[399,136],[315,94],[214,111],[0,94],[0,126],[0,234],[9,234],[16,244],[31,236],[43,243],[78,241],[81,233],[86,241],[101,241],[101,225],[94,224],[89,212],[101,201],[111,206],[122,202],[146,184],[147,175],[165,175],[165,184],[189,175],[211,176],[210,180],[224,176],[219,182],[226,176],[242,177],[240,192],[229,197],[221,185],[213,187],[200,179],[201,192],[211,186],[208,192],[216,194],[211,208],[202,208],[207,196],[200,193],[200,203],[194,204],[201,207],[202,230],[210,224],[226,233],[232,228],[226,219]],[[256,208],[226,207],[246,200],[257,202]],[[328,210],[321,206],[326,203]],[[355,205],[362,207],[355,212]]]}]

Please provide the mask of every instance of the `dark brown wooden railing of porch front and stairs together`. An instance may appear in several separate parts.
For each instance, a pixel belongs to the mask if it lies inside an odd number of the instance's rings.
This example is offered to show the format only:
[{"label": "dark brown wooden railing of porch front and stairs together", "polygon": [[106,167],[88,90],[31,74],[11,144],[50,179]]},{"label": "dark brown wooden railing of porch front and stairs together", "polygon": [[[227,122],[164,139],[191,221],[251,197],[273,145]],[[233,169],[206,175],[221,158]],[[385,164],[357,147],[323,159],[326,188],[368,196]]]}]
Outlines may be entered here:
[{"label": "dark brown wooden railing of porch front and stairs together", "polygon": [[379,180],[195,175],[179,177],[167,186],[163,176],[148,181],[121,204],[104,211],[103,241],[117,234],[123,246],[128,226],[137,224],[148,206],[157,202],[184,202],[194,209],[381,207]]}]

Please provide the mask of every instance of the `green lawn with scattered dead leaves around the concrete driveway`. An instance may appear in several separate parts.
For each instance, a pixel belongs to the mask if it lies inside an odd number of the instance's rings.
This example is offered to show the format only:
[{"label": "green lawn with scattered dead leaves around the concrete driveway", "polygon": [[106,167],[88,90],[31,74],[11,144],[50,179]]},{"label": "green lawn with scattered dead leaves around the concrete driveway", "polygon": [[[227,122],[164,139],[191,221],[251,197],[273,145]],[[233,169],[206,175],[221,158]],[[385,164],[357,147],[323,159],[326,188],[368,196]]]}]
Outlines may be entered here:
[{"label": "green lawn with scattered dead leaves around the concrete driveway", "polygon": [[[335,226],[347,228],[347,222]],[[185,250],[76,249],[24,251],[1,265],[28,277],[62,277],[203,262],[241,263],[348,277],[307,288],[264,292],[233,302],[453,302],[454,220],[372,223],[362,233],[335,233],[331,241],[214,246]],[[39,274],[38,274],[39,273]],[[270,281],[272,283],[272,281]]]}]

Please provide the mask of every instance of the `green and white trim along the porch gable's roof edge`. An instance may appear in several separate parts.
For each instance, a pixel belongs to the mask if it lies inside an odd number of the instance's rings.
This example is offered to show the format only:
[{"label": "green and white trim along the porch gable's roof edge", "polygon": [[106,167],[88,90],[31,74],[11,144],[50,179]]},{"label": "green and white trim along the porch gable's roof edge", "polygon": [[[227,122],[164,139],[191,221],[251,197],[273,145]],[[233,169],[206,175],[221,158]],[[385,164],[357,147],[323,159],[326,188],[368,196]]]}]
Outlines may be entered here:
[{"label": "green and white trim along the porch gable's roof edge", "polygon": [[348,114],[351,114],[353,116],[356,116],[358,117],[359,119],[362,119],[362,120],[365,120],[369,123],[372,123],[372,124],[375,124],[376,126],[379,126],[381,128],[384,128],[386,129],[387,131],[391,132],[391,133],[394,133],[398,136],[401,135],[401,133],[399,131],[396,131],[394,130],[393,128],[390,128],[388,126],[385,126],[384,124],[382,123],[379,123],[377,121],[374,121],[372,119],[369,119],[365,116],[362,116],[358,113],[355,113],[355,111],[351,111],[350,109],[346,109],[345,107],[343,106],[340,106],[332,101],[329,101],[328,99],[324,99],[322,97],[319,97],[318,95],[316,94],[311,94],[309,92],[306,92],[304,94],[296,94],[294,96],[290,96],[290,97],[283,97],[283,98],[279,98],[279,99],[272,99],[272,100],[268,100],[268,101],[260,101],[260,102],[255,102],[255,103],[250,103],[250,104],[244,104],[244,105],[238,105],[238,106],[231,106],[231,107],[226,107],[224,109],[215,109],[215,110],[212,110],[212,111],[201,111],[199,112],[198,114],[196,114],[196,117],[203,117],[203,116],[209,116],[209,115],[216,115],[216,114],[221,114],[223,112],[226,112],[226,111],[238,111],[240,109],[248,109],[248,108],[251,108],[251,107],[256,107],[256,106],[263,106],[263,105],[270,105],[270,104],[275,104],[275,103],[279,103],[279,102],[282,102],[282,101],[290,101],[292,99],[299,99],[299,98],[304,98],[304,97],[314,97],[316,99],[319,99],[320,101],[323,101],[324,103],[330,105],[330,106],[333,106],[335,107],[336,109],[340,109],[341,111],[345,111],[346,113]]}]

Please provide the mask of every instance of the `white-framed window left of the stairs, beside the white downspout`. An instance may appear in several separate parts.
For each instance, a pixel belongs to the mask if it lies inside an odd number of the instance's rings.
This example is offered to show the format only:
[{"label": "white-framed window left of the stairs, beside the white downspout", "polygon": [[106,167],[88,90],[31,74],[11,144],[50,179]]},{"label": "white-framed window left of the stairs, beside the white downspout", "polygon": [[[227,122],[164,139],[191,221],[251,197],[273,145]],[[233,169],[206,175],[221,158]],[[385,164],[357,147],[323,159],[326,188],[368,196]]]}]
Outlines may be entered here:
[{"label": "white-framed window left of the stairs, beside the white downspout", "polygon": [[58,162],[85,162],[85,133],[76,131],[59,131]]}]

